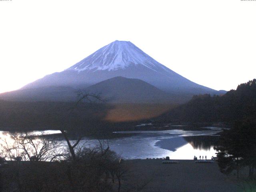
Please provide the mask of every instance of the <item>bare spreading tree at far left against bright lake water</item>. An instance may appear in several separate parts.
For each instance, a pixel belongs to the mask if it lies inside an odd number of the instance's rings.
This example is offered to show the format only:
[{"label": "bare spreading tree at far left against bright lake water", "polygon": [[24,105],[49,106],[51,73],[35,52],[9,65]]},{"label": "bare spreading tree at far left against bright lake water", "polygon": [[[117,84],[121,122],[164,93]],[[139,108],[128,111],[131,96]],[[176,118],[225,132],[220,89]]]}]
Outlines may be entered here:
[{"label": "bare spreading tree at far left against bright lake water", "polygon": [[[17,184],[17,190],[19,192],[25,191],[25,188],[29,187],[26,183],[26,178],[29,175],[34,175],[37,172],[30,167],[33,172],[29,173],[24,171],[26,164],[21,160],[36,160],[36,161],[52,161],[56,158],[63,157],[64,150],[62,142],[56,140],[50,140],[45,137],[44,132],[41,132],[40,136],[32,133],[13,133],[10,134],[10,140],[3,140],[1,142],[2,156],[11,160],[8,164],[9,179],[7,182],[14,181]],[[12,161],[14,160],[14,161]],[[34,164],[36,169],[38,166],[44,164]],[[26,175],[27,174],[27,175]],[[7,185],[8,186],[8,185]],[[37,186],[42,186],[38,184]]]}]

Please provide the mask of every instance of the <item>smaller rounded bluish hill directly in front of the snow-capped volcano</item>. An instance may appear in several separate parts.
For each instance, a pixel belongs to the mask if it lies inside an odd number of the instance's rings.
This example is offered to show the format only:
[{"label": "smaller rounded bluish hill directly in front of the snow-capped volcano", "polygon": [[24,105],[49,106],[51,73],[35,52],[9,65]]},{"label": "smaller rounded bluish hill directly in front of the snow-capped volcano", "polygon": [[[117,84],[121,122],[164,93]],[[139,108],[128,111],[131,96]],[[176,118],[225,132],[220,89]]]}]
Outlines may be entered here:
[{"label": "smaller rounded bluish hill directly in front of the snow-capped volcano", "polygon": [[108,102],[118,103],[162,103],[174,101],[166,92],[139,79],[114,77],[87,88],[100,93]]}]

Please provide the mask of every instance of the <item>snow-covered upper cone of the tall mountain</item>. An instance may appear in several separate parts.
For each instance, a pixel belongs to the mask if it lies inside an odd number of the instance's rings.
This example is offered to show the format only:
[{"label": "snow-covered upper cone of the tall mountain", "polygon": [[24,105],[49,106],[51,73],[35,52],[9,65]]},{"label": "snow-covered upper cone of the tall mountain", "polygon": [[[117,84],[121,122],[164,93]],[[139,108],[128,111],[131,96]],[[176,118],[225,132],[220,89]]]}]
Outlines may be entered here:
[{"label": "snow-covered upper cone of the tall mountain", "polygon": [[130,41],[114,41],[80,62],[71,66],[67,70],[118,70],[128,66],[143,65],[151,70],[157,71],[159,68],[166,70],[166,67],[148,56]]}]

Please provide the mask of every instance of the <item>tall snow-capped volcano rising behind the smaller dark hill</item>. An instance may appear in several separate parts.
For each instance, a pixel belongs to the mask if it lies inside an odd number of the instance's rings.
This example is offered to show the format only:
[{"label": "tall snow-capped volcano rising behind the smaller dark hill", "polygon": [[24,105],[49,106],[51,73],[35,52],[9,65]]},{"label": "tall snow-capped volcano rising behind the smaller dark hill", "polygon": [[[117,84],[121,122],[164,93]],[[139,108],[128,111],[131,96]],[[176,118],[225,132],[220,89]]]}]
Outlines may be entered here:
[{"label": "tall snow-capped volcano rising behind the smaller dark hill", "polygon": [[[37,90],[41,92],[47,90],[45,92],[48,92],[48,94],[51,92],[50,95],[54,95],[52,91],[56,87],[58,94],[60,94],[59,90],[61,90],[61,100],[65,100],[64,92],[68,92],[67,100],[70,100],[68,98],[72,98],[70,96],[71,90],[78,88],[90,89],[90,86],[94,84],[120,76],[142,80],[161,92],[170,94],[173,98],[179,98],[179,102],[181,100],[182,102],[189,100],[195,94],[223,93],[184,78],[148,56],[129,41],[116,40],[70,68],[47,75],[44,78],[27,84],[20,90],[9,92],[8,96],[15,100],[20,92],[26,97],[26,92],[31,94],[31,92],[37,92]],[[118,79],[116,79],[117,82],[115,84],[118,84]],[[121,84],[122,81],[119,83]],[[125,84],[123,86],[125,88]],[[48,88],[50,88],[50,91]],[[0,98],[2,96],[4,94],[0,94]]]}]

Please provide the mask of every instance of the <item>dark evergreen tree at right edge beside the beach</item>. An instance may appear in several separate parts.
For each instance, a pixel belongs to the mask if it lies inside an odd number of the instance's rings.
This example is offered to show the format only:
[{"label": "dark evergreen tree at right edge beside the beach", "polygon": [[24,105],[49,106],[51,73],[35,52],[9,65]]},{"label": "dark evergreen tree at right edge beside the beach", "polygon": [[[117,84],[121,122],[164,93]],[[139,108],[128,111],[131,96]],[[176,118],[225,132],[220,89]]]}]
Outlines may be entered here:
[{"label": "dark evergreen tree at right edge beside the beach", "polygon": [[220,136],[218,146],[218,166],[224,174],[230,174],[243,166],[249,167],[249,176],[254,176],[256,168],[256,126],[253,121],[238,122],[234,128],[225,130]]}]

